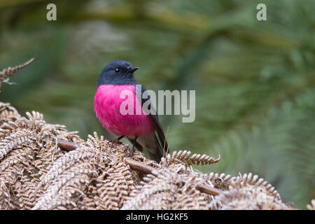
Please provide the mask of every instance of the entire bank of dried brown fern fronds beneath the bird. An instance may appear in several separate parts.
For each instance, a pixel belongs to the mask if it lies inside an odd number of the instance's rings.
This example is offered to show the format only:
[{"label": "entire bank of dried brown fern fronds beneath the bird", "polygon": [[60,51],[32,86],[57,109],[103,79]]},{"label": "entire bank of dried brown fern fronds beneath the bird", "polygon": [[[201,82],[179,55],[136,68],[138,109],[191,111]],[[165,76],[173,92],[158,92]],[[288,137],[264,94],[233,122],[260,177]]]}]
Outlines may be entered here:
[{"label": "entire bank of dried brown fern fronds beneath the bird", "polygon": [[[0,81],[13,70],[3,71]],[[0,119],[0,209],[293,209],[257,175],[190,166],[220,158],[178,151],[157,164],[137,151],[131,159],[126,145],[95,132],[84,141],[8,103],[0,102]]]}]

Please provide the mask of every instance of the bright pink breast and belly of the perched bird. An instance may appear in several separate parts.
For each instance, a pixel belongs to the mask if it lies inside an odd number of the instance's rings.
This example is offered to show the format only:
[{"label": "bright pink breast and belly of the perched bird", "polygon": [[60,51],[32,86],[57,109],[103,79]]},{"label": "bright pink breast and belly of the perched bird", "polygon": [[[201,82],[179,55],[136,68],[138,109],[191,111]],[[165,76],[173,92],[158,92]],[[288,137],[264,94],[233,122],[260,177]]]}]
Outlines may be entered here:
[{"label": "bright pink breast and belly of the perched bird", "polygon": [[[132,95],[127,97],[134,98],[134,115],[120,113],[120,104],[127,99],[120,99],[120,93],[123,90],[132,92]],[[139,137],[153,132],[154,127],[151,118],[144,111],[141,115],[137,115],[136,108],[141,109],[141,103],[135,95],[134,85],[100,85],[97,88],[94,97],[94,110],[99,122],[111,134]]]}]

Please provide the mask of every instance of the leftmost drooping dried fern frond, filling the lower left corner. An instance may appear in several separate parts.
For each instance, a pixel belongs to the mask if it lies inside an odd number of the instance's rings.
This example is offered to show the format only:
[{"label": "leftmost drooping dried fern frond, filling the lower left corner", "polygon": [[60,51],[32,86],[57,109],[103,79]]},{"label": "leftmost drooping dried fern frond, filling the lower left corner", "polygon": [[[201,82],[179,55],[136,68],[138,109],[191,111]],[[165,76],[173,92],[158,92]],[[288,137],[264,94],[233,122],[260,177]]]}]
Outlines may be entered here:
[{"label": "leftmost drooping dried fern frond, filling the lower left corner", "polygon": [[31,209],[43,193],[34,194],[41,176],[63,155],[55,139],[78,137],[62,125],[46,124],[41,113],[24,118],[9,109],[12,119],[0,123],[0,209]]}]

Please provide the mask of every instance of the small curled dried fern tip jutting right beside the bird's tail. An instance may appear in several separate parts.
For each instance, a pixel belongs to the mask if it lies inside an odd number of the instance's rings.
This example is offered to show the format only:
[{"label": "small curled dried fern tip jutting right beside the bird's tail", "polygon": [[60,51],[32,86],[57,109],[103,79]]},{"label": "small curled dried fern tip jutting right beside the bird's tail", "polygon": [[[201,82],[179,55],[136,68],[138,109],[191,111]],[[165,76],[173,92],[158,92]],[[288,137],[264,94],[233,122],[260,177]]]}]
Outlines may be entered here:
[{"label": "small curled dried fern tip jutting right beside the bird's tail", "polygon": [[200,155],[194,153],[190,155],[190,151],[174,151],[172,157],[167,155],[167,161],[172,162],[186,162],[188,165],[209,165],[220,161],[220,155],[218,158],[212,158],[209,155]]}]

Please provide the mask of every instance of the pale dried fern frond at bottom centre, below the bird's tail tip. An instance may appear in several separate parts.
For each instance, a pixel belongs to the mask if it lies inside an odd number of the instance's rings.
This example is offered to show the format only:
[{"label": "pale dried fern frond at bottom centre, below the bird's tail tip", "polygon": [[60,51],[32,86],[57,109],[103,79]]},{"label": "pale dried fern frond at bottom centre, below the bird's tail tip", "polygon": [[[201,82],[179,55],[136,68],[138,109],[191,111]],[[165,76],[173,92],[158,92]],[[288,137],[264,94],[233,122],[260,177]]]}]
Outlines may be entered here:
[{"label": "pale dried fern frond at bottom centre, below the bird's tail tip", "polygon": [[207,209],[211,196],[197,184],[212,186],[183,164],[158,169],[142,179],[122,209]]}]

